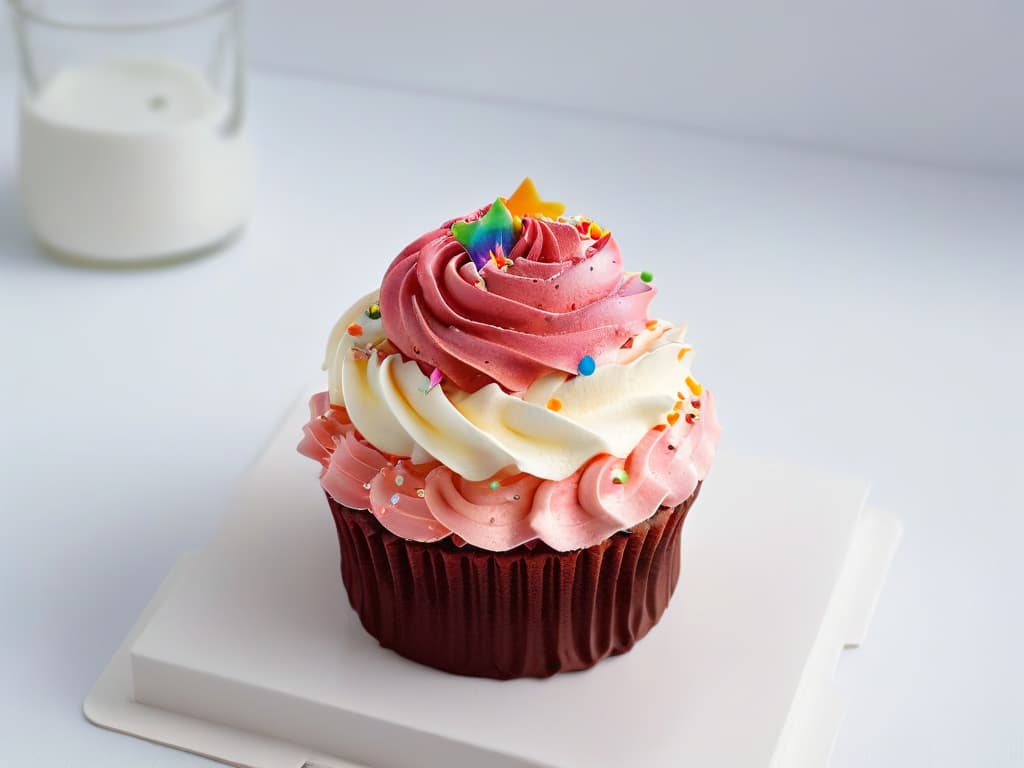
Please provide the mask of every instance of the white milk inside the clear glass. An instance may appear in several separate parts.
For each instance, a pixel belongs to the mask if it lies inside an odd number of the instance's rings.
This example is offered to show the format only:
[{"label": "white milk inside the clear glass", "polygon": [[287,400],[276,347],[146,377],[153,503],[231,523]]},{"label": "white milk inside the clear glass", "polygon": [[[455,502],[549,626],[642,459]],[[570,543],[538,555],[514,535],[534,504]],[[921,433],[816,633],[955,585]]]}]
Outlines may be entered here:
[{"label": "white milk inside the clear glass", "polygon": [[223,240],[250,197],[229,109],[199,72],[169,60],[59,72],[22,102],[20,187],[36,237],[110,263]]}]

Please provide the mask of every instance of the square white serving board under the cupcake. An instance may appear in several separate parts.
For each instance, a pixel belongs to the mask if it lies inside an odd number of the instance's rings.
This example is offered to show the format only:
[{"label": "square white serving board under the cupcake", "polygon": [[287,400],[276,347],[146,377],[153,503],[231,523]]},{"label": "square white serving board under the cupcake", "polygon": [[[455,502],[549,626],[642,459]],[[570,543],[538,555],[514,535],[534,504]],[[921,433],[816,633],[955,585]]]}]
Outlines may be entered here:
[{"label": "square white serving board under the cupcake", "polygon": [[[547,680],[464,678],[380,648],[349,608],[304,402],[85,701],[92,722],[252,768],[827,763],[839,653],[900,536],[866,485],[721,456],[679,587],[630,653]],[[346,762],[349,761],[349,762]]]}]

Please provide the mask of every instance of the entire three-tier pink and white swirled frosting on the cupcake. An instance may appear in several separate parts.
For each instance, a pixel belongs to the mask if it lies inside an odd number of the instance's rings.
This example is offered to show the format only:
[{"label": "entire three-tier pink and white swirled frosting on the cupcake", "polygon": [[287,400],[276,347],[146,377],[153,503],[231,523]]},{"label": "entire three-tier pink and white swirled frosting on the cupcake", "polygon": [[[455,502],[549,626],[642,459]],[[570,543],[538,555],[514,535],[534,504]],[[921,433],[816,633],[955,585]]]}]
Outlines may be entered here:
[{"label": "entire three-tier pink and white swirled frosting on the cupcake", "polygon": [[714,459],[714,398],[685,328],[647,317],[650,274],[593,222],[517,204],[509,223],[496,203],[493,246],[455,220],[412,243],[328,340],[299,451],[399,537],[589,547],[683,503]]}]

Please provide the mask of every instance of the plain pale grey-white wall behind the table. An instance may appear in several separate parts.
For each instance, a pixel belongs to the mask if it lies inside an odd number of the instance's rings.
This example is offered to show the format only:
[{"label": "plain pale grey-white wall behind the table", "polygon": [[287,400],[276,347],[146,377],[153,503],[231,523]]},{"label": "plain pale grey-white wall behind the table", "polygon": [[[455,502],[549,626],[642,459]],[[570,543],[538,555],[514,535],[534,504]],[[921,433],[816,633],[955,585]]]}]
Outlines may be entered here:
[{"label": "plain pale grey-white wall behind the table", "polygon": [[1024,172],[1018,0],[251,0],[248,29],[274,72]]}]

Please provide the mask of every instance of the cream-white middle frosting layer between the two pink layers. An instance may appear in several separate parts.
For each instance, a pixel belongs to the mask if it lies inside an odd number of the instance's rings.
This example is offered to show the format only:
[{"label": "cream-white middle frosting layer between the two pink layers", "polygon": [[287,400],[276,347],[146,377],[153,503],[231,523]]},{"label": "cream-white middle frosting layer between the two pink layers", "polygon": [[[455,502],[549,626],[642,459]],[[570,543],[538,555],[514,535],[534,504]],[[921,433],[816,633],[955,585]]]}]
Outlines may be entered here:
[{"label": "cream-white middle frosting layer between the two pink layers", "polygon": [[[508,467],[561,480],[599,454],[627,457],[665,422],[692,364],[685,328],[656,323],[591,376],[552,373],[517,394],[497,384],[473,393],[445,383],[428,389],[416,362],[375,346],[386,341],[381,322],[364,310],[376,300],[376,293],[360,299],[331,334],[325,361],[331,401],[344,404],[379,450],[417,462],[436,459],[469,480]],[[352,323],[360,335],[348,333]]]}]

